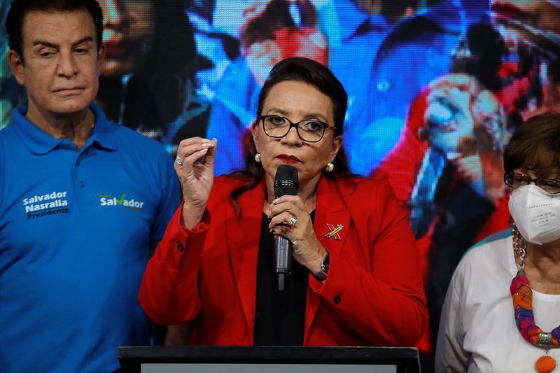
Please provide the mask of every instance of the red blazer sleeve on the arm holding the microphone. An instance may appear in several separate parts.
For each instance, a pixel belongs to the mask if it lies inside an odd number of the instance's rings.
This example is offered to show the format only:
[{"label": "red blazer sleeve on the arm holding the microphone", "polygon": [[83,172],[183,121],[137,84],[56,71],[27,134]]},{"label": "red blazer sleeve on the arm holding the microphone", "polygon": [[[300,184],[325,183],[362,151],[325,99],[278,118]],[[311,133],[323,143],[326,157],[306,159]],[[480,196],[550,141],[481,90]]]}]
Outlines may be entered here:
[{"label": "red blazer sleeve on the arm holding the microphone", "polygon": [[354,250],[365,250],[370,263],[358,265],[344,251],[332,254],[325,283],[310,285],[370,344],[414,346],[428,323],[416,241],[391,186],[367,185],[346,203],[360,245],[367,246]]}]

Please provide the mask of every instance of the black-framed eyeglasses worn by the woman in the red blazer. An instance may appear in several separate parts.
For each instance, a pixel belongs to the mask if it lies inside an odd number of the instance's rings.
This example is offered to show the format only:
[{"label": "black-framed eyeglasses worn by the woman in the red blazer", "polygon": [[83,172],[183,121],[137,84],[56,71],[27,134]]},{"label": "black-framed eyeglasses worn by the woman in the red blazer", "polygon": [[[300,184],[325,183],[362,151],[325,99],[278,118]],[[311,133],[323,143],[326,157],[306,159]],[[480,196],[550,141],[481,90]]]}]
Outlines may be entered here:
[{"label": "black-framed eyeglasses worn by the woman in the red blazer", "polygon": [[308,143],[316,143],[323,139],[327,128],[336,129],[336,127],[330,127],[327,123],[316,119],[304,119],[294,123],[280,115],[261,115],[260,120],[262,120],[262,129],[265,130],[265,134],[274,139],[286,136],[290,129],[295,127],[300,139]]}]

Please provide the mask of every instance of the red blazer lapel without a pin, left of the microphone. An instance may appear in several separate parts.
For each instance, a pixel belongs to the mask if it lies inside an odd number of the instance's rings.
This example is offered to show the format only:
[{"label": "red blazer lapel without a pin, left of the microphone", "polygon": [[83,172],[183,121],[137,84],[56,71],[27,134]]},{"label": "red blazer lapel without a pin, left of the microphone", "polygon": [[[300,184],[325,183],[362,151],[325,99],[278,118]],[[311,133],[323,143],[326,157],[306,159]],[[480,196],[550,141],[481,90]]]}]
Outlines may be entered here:
[{"label": "red blazer lapel without a pin, left of the microphone", "polygon": [[262,204],[265,201],[265,183],[248,190],[239,197],[241,219],[230,208],[226,232],[237,292],[245,314],[250,340],[253,340],[253,323],[256,307],[256,280]]}]

